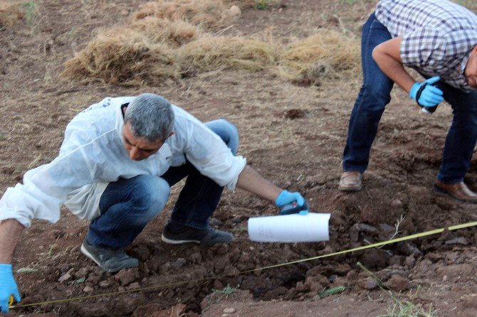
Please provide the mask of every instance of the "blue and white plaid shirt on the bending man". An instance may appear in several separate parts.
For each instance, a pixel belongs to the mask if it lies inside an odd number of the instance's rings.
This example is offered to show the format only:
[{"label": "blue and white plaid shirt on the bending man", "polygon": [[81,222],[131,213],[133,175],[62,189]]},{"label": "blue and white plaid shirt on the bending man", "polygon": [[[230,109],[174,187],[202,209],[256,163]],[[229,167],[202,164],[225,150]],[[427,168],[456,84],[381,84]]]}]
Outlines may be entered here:
[{"label": "blue and white plaid shirt on the bending man", "polygon": [[404,65],[460,90],[474,90],[464,70],[477,45],[477,16],[448,0],[380,0],[376,18],[391,34],[402,36]]}]

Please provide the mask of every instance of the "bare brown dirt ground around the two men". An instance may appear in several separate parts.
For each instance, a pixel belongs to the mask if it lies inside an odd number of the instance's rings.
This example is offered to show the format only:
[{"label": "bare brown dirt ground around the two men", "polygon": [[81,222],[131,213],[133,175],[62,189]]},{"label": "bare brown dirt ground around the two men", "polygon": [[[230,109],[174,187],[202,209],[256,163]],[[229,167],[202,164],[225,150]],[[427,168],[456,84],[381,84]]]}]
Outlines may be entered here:
[{"label": "bare brown dirt ground around the two men", "polygon": [[[245,70],[206,73],[157,87],[80,85],[59,76],[65,61],[98,28],[121,25],[143,2],[34,1],[35,11],[21,23],[1,28],[1,193],[29,168],[58,154],[63,130],[76,112],[106,96],[155,92],[201,120],[234,122],[241,134],[239,152],[251,166],[278,186],[299,190],[312,211],[331,213],[330,241],[251,242],[248,217],[274,215],[276,208],[236,190],[224,194],[212,220],[234,232],[231,245],[165,245],[160,235],[175,188],[162,214],[129,249],[140,258],[140,267],[109,274],[80,254],[88,223],[62,210],[58,223],[35,221],[23,232],[14,260],[21,303],[42,304],[12,308],[11,316],[398,316],[389,313],[389,296],[357,262],[400,292],[403,303],[412,302],[433,316],[477,316],[475,227],[240,274],[387,240],[402,218],[397,237],[477,220],[475,205],[432,190],[451,122],[449,105],[426,116],[396,88],[374,142],[365,187],[359,193],[340,193],[342,148],[359,74],[305,87]],[[477,11],[471,1],[461,3]],[[285,1],[266,10],[243,10],[226,32],[249,35],[271,28],[274,36],[300,38],[329,28],[359,37],[374,5],[367,0]],[[466,177],[474,190],[476,160]],[[183,281],[189,282],[179,283]],[[162,287],[121,293],[152,286]],[[335,286],[346,288],[321,299],[322,291]],[[83,301],[43,303],[98,294]]]}]

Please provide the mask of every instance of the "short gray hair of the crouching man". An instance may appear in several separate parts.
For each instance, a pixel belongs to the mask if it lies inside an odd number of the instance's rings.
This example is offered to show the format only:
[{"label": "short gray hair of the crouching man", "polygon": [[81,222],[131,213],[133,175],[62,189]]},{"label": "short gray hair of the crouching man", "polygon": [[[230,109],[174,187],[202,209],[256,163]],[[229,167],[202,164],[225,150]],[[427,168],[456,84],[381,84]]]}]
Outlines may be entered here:
[{"label": "short gray hair of the crouching man", "polygon": [[164,97],[142,94],[130,102],[124,123],[130,123],[132,134],[147,141],[164,141],[174,127],[172,106]]}]

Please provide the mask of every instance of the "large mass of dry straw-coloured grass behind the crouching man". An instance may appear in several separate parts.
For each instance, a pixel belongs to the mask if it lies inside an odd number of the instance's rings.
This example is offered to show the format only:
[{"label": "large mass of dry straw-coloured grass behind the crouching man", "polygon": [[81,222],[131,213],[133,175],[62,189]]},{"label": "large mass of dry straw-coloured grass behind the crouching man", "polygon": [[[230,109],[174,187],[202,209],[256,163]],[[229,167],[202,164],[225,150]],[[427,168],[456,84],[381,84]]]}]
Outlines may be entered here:
[{"label": "large mass of dry straw-coloured grass behind the crouching man", "polygon": [[63,75],[157,85],[199,72],[245,69],[316,84],[357,70],[359,44],[342,33],[320,31],[287,45],[273,41],[271,33],[264,39],[210,33],[224,26],[226,12],[219,0],[147,3],[129,26],[100,33],[68,60]]}]

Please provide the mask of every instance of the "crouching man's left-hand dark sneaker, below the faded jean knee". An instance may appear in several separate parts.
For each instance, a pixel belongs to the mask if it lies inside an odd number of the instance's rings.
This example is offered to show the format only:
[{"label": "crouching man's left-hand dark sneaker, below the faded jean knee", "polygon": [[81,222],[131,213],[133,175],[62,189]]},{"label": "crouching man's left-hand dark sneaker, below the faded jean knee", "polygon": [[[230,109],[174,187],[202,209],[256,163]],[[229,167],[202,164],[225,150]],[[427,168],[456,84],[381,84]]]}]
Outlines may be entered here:
[{"label": "crouching man's left-hand dark sneaker, below the faded jean knee", "polygon": [[86,257],[92,259],[106,272],[117,272],[139,265],[139,260],[127,255],[123,249],[95,247],[94,245],[90,245],[86,238],[81,245],[81,252],[85,254]]}]

